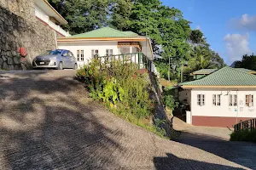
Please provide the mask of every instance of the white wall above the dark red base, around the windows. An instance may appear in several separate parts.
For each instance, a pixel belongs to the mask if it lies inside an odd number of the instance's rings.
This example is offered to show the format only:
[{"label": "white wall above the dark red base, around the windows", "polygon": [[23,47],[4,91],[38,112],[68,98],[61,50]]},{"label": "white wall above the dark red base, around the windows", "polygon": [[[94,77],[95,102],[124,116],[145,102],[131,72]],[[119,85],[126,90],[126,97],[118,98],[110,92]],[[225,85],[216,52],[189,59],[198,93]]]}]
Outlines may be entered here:
[{"label": "white wall above the dark red base, around the windows", "polygon": [[[197,104],[198,94],[205,95],[205,105]],[[213,105],[213,94],[220,94],[220,105]],[[230,94],[237,95],[237,105],[230,106]],[[246,95],[249,94],[253,95],[252,106],[246,105]],[[256,117],[256,89],[192,89],[191,113],[192,116]]]}]

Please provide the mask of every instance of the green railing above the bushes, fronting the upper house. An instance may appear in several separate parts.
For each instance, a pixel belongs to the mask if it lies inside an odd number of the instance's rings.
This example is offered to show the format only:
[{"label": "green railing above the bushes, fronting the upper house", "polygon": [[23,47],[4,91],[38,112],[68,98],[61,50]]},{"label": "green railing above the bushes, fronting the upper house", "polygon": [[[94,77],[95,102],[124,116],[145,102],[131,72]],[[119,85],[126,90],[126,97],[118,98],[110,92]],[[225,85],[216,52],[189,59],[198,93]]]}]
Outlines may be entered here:
[{"label": "green railing above the bushes, fronting the upper house", "polygon": [[143,53],[132,53],[132,54],[115,54],[115,55],[105,55],[96,57],[100,60],[100,63],[111,62],[119,60],[123,64],[132,63],[138,66],[138,69],[152,70],[152,61],[148,59]]}]

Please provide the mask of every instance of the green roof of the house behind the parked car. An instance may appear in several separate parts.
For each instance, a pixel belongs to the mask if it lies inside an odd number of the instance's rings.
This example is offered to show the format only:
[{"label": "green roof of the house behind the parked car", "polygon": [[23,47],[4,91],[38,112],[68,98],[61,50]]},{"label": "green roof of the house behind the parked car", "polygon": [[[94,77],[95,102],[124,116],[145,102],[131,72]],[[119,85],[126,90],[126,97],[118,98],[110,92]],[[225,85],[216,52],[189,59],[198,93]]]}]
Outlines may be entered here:
[{"label": "green roof of the house behind the parked car", "polygon": [[88,38],[88,37],[141,37],[133,31],[118,31],[110,27],[103,27],[94,31],[84,32],[67,38]]}]

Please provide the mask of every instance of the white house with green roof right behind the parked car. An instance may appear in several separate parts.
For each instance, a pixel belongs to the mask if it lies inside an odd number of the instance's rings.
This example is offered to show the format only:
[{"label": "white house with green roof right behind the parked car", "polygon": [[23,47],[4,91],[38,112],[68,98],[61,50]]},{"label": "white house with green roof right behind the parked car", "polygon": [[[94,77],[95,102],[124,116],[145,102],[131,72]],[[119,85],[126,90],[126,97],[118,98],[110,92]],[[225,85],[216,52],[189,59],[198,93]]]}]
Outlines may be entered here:
[{"label": "white house with green roof right behind the parked car", "polygon": [[[76,56],[79,66],[91,59],[130,59],[131,62],[145,63],[143,57],[153,60],[149,37],[139,36],[132,31],[118,31],[103,27],[71,37],[57,38],[58,48],[68,49]],[[105,57],[108,56],[108,57]],[[147,63],[148,64],[148,63]],[[149,65],[149,64],[148,64]]]}]

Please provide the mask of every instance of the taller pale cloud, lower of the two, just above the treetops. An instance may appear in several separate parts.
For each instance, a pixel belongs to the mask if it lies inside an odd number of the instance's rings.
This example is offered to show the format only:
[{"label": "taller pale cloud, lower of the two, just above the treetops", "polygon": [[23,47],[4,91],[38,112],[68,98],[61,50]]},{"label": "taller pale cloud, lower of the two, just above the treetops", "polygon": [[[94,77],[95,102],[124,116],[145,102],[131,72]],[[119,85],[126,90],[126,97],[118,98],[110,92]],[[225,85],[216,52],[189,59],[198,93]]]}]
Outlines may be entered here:
[{"label": "taller pale cloud, lower of the two, just above the treetops", "polygon": [[224,37],[228,62],[240,60],[243,54],[251,53],[249,48],[249,34],[227,34]]}]

